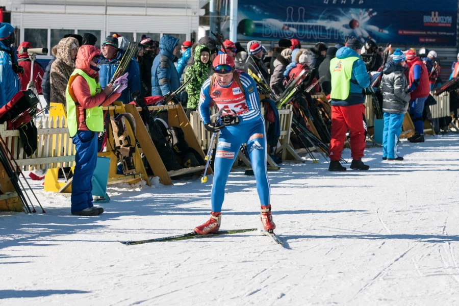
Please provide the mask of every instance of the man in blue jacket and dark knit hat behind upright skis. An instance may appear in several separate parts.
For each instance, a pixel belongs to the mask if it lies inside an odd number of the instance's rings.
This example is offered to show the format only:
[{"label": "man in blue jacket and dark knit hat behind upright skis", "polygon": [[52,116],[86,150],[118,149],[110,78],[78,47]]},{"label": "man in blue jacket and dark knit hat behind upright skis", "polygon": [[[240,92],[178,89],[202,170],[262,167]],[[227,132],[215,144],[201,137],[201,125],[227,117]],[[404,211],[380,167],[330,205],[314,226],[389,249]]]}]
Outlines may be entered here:
[{"label": "man in blue jacket and dark knit hat behind upright skis", "polygon": [[[102,55],[104,59],[100,62],[99,68],[99,82],[100,87],[104,89],[115,74],[116,68],[121,61],[123,51],[118,47],[118,39],[113,36],[107,36],[102,42]],[[123,104],[128,104],[132,101],[131,93],[138,90],[140,91],[140,72],[139,64],[135,58],[127,66],[127,88],[124,89],[118,98]]]}]

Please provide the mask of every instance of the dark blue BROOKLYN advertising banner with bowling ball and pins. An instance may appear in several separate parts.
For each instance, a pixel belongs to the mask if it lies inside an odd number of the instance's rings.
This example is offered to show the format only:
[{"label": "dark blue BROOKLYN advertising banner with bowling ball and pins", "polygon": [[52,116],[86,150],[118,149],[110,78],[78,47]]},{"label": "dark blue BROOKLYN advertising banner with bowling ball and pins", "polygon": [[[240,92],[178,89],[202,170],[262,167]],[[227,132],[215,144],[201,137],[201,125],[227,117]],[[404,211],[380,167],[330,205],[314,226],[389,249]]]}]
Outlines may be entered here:
[{"label": "dark blue BROOKLYN advertising banner with bowling ball and pins", "polygon": [[238,40],[456,45],[457,0],[240,0]]}]

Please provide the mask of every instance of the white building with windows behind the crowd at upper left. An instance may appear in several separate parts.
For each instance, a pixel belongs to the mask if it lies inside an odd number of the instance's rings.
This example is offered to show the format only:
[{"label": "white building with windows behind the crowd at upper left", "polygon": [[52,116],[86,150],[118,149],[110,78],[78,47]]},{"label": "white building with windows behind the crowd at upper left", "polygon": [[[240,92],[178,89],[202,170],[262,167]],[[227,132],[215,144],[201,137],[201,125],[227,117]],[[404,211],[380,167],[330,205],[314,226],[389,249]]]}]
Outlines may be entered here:
[{"label": "white building with windows behind the crowd at upper left", "polygon": [[11,11],[19,41],[50,50],[69,33],[110,34],[139,41],[168,34],[181,42],[198,35],[200,9],[209,0],[0,0]]}]

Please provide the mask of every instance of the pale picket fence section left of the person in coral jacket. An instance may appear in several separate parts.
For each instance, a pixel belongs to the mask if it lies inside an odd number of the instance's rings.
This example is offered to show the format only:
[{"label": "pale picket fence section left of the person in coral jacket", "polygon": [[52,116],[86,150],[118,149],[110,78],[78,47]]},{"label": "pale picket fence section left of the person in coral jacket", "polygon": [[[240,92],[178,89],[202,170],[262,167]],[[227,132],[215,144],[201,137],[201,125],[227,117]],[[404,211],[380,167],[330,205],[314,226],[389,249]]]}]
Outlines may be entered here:
[{"label": "pale picket fence section left of the person in coral jacket", "polygon": [[22,170],[73,166],[75,147],[68,135],[65,118],[40,116],[34,119],[34,123],[38,131],[38,145],[29,157],[25,155],[19,131],[7,130],[6,123],[0,125],[0,136]]}]

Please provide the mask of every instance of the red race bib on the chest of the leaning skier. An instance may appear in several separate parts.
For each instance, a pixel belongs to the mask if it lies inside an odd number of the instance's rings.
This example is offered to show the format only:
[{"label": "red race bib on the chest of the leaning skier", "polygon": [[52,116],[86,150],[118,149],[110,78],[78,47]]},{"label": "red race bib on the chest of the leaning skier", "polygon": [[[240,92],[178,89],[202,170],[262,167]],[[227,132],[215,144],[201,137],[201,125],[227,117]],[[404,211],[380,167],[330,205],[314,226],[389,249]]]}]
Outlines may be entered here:
[{"label": "red race bib on the chest of the leaning skier", "polygon": [[234,110],[238,115],[249,111],[245,94],[235,80],[229,87],[221,87],[215,80],[214,84],[212,84],[211,98],[217,105],[218,110],[230,109]]}]

